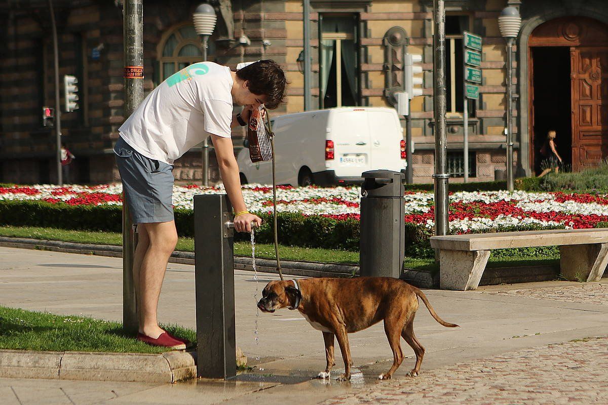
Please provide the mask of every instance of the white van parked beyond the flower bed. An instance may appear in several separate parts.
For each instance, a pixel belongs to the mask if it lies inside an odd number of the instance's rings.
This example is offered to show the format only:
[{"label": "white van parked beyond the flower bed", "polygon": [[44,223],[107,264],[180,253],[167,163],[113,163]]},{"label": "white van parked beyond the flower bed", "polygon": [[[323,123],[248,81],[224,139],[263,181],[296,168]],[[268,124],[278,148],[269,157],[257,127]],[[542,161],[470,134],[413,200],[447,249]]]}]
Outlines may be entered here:
[{"label": "white van parked beyond the flower bed", "polygon": [[[272,118],[272,117],[271,117]],[[406,143],[395,109],[337,107],[272,118],[278,185],[362,183],[368,170],[406,169]],[[241,183],[272,183],[272,162],[237,158]]]}]

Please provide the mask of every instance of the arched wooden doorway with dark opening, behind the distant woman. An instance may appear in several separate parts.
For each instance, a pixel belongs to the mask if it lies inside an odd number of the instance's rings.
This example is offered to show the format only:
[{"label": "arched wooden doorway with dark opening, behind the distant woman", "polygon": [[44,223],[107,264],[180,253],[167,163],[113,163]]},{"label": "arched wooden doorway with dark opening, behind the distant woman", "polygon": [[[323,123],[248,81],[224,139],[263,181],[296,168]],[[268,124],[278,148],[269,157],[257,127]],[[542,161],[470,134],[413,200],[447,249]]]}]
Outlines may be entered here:
[{"label": "arched wooden doorway with dark opening, behind the distant woman", "polygon": [[608,157],[608,26],[564,17],[536,27],[530,63],[530,166],[538,172],[547,131],[572,170]]}]

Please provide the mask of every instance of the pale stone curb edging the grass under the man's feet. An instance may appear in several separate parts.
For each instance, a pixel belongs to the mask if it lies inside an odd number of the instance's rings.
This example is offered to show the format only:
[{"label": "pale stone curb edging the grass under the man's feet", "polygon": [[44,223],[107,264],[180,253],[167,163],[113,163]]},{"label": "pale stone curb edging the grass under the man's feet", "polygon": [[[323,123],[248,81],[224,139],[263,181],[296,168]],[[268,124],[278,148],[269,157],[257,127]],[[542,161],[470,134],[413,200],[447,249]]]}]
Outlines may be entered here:
[{"label": "pale stone curb edging the grass under the man's feet", "polygon": [[196,378],[196,352],[91,353],[0,350],[0,377],[177,383]]}]

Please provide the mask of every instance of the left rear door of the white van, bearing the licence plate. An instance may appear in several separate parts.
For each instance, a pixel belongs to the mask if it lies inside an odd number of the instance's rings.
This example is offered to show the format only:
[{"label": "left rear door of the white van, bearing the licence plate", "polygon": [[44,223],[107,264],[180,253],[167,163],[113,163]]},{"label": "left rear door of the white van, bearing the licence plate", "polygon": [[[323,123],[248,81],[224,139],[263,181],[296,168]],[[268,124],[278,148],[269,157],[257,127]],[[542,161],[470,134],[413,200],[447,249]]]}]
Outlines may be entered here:
[{"label": "left rear door of the white van, bearing the licence plate", "polygon": [[344,109],[334,112],[331,132],[327,139],[334,141],[337,177],[361,177],[370,170],[371,142],[365,109]]}]

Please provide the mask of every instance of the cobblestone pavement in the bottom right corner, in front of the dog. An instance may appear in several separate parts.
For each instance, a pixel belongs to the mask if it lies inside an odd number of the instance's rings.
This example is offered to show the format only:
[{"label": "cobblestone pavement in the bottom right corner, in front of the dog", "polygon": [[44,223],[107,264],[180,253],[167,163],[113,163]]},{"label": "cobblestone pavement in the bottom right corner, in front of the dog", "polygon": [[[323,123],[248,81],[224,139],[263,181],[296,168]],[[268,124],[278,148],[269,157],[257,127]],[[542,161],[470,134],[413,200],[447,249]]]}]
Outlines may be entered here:
[{"label": "cobblestone pavement in the bottom right corner, in front of the dog", "polygon": [[[406,364],[402,364],[406,366]],[[551,344],[424,371],[323,402],[335,404],[608,404],[608,338]]]}]

